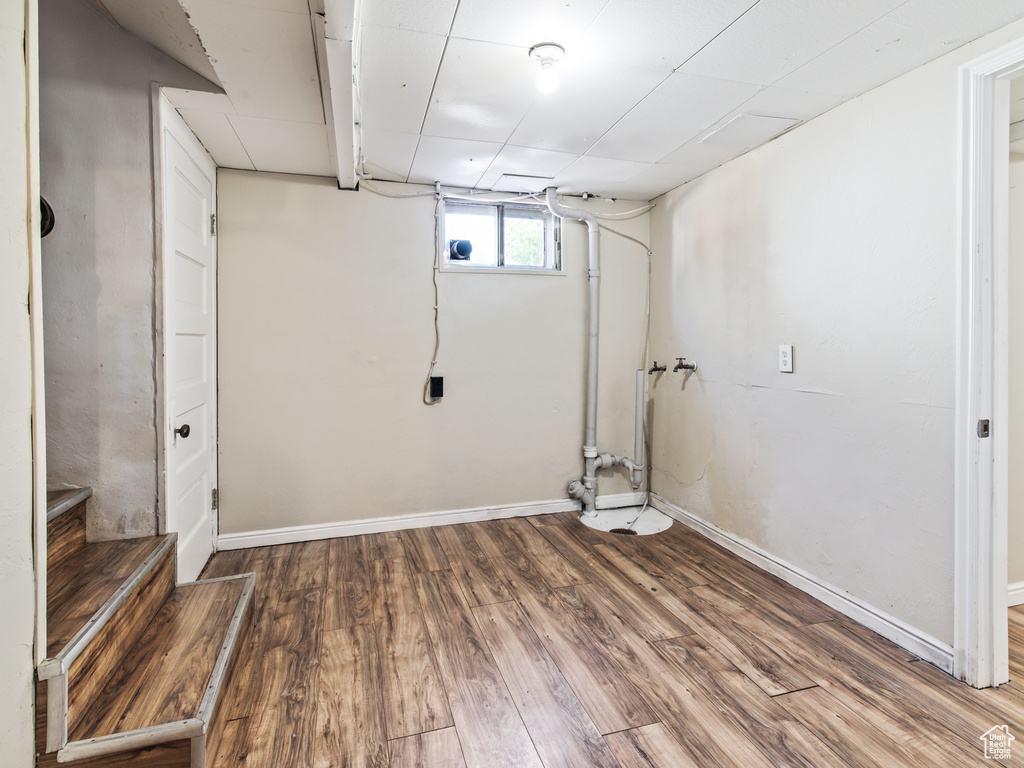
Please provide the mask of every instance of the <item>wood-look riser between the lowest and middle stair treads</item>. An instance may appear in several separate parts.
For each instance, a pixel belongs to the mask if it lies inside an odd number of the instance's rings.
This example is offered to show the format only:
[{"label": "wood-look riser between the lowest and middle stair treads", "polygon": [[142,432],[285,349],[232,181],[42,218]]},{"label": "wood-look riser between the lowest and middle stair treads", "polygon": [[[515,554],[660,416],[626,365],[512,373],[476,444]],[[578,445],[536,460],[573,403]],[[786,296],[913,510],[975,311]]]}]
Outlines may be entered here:
[{"label": "wood-look riser between the lowest and middle stair treads", "polygon": [[74,733],[88,702],[102,690],[122,659],[174,590],[175,555],[171,547],[160,563],[125,600],[68,672],[68,728]]}]

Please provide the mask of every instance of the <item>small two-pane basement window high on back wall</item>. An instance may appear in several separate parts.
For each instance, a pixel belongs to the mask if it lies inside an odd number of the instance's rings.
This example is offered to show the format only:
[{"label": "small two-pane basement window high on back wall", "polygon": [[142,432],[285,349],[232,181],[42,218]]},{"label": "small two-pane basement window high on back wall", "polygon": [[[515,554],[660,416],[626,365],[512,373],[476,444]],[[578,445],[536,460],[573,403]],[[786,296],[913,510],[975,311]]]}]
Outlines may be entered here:
[{"label": "small two-pane basement window high on back wall", "polygon": [[546,206],[445,199],[441,268],[561,273],[559,219]]}]

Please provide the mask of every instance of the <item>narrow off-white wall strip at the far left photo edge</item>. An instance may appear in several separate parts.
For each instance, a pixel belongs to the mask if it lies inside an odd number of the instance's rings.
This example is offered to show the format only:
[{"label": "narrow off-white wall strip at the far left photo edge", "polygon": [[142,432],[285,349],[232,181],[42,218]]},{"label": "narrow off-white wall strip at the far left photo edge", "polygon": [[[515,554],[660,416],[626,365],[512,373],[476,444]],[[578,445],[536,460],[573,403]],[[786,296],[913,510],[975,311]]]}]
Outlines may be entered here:
[{"label": "narrow off-white wall strip at the far left photo edge", "polygon": [[0,4],[0,744],[11,768],[35,764],[27,13],[31,2]]}]

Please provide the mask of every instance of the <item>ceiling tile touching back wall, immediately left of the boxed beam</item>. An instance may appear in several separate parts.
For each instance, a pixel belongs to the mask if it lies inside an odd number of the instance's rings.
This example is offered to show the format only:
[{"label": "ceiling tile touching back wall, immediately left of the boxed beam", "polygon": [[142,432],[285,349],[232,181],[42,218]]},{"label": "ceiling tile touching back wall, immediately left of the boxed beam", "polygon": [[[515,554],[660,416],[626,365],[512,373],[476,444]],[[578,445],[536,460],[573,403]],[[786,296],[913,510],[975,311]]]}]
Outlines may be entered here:
[{"label": "ceiling tile touching back wall, immediately left of the boxed beam", "polygon": [[228,115],[257,171],[334,176],[327,126]]}]

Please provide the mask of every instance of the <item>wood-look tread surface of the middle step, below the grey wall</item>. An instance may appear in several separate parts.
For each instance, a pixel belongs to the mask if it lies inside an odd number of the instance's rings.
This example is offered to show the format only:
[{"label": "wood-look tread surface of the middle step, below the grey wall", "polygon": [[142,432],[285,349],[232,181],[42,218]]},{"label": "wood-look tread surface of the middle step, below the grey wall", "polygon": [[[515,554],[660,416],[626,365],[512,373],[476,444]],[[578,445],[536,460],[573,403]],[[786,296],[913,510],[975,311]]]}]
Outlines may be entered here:
[{"label": "wood-look tread surface of the middle step, below the grey wall", "polygon": [[93,542],[46,572],[46,655],[56,656],[166,536]]}]

